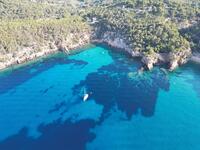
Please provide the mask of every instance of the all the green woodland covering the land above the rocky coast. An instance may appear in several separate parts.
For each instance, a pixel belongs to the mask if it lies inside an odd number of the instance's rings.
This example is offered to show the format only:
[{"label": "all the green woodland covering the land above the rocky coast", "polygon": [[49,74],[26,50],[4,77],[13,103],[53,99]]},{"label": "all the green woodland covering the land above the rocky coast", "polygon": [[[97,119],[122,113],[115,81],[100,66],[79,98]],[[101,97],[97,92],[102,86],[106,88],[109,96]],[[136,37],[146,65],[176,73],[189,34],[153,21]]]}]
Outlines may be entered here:
[{"label": "all the green woodland covering the land above the rocky coast", "polygon": [[146,55],[197,50],[199,18],[198,0],[0,0],[0,53],[39,50],[91,28],[94,38],[119,37]]}]

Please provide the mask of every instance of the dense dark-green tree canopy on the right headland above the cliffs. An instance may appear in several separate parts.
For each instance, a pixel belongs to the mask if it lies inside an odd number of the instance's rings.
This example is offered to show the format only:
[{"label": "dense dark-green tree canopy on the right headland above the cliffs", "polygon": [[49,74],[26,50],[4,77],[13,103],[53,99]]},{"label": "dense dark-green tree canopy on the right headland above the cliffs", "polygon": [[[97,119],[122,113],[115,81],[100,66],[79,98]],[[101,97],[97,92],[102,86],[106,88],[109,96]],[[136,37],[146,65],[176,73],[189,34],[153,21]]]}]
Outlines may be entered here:
[{"label": "dense dark-green tree canopy on the right headland above the cliffs", "polygon": [[162,16],[138,17],[135,12],[111,6],[109,9],[105,6],[92,8],[82,15],[97,20],[92,24],[97,38],[103,38],[105,33],[114,33],[111,38],[120,35],[134,51],[152,54],[177,52],[190,47],[176,24]]}]

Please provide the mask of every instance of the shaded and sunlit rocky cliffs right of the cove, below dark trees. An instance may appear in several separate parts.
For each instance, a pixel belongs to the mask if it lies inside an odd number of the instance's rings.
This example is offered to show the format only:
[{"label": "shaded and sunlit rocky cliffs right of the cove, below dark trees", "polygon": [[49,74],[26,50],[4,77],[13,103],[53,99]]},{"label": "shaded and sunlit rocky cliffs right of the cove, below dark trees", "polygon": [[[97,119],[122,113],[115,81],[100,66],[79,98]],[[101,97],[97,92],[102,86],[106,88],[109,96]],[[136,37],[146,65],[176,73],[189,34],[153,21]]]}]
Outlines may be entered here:
[{"label": "shaded and sunlit rocky cliffs right of the cove, below dark trees", "polygon": [[[101,38],[95,38],[93,42],[106,43],[107,45],[124,50],[132,57],[141,58],[144,69],[151,70],[155,65],[165,64],[169,71],[175,70],[178,66],[185,64],[192,57],[191,49],[177,53],[153,53],[146,55],[137,50],[133,50],[120,35],[113,36],[113,33],[105,33]],[[199,56],[200,58],[200,56]],[[199,59],[200,62],[200,59]]]}]

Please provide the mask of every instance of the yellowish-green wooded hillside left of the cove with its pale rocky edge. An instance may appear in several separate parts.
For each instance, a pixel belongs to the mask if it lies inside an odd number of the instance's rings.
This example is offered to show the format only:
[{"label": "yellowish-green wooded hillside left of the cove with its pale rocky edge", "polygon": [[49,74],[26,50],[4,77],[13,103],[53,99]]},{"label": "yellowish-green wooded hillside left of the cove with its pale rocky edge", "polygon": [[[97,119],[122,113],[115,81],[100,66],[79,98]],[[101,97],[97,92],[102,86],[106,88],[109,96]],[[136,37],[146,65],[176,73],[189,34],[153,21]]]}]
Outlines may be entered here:
[{"label": "yellowish-green wooded hillside left of the cove with its pale rocky edge", "polygon": [[89,25],[69,3],[0,0],[0,69],[89,39]]}]

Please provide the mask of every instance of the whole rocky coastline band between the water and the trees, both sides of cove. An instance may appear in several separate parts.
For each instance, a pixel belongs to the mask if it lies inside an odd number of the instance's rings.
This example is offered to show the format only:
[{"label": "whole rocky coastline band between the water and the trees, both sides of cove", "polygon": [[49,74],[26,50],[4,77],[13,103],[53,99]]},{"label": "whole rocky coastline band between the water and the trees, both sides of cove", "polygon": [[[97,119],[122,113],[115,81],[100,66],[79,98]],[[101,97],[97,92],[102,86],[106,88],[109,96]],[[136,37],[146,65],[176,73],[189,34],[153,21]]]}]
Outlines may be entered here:
[{"label": "whole rocky coastline band between the water and the trees, both sides of cove", "polygon": [[[147,70],[151,70],[155,65],[161,65],[165,64],[168,66],[169,71],[173,71],[178,66],[186,63],[188,60],[192,60],[195,62],[200,63],[200,54],[194,54],[192,55],[191,50],[185,50],[178,53],[154,53],[151,55],[145,55],[144,53],[141,53],[136,50],[132,50],[128,44],[126,44],[123,40],[123,38],[118,35],[115,37],[110,37],[110,34],[104,34],[102,38],[94,38],[91,37],[90,34],[84,33],[82,36],[79,36],[79,38],[76,43],[72,42],[74,36],[76,35],[70,35],[70,38],[66,41],[62,42],[55,42],[50,43],[48,46],[40,47],[40,51],[36,51],[36,48],[33,47],[26,47],[23,48],[21,51],[15,52],[15,53],[9,53],[6,55],[3,55],[3,58],[0,57],[0,70],[3,70],[7,67],[10,67],[12,65],[25,63],[27,61],[55,53],[57,51],[64,51],[69,53],[70,50],[80,48],[86,44],[89,43],[106,43],[107,45],[121,49],[129,53],[132,57],[139,57],[141,58],[141,62],[143,63],[143,68]],[[4,61],[2,61],[2,59]]]}]

